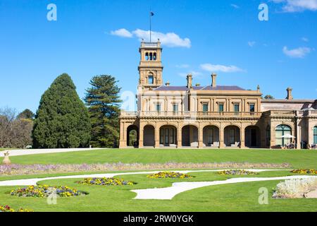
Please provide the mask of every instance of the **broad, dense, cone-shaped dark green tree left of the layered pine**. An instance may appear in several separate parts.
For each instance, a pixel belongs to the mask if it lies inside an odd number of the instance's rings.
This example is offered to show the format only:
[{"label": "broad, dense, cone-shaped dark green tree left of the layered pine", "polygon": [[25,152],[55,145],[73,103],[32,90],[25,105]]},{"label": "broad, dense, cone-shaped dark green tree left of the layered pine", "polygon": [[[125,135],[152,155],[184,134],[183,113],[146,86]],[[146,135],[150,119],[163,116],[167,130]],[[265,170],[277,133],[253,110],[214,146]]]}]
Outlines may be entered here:
[{"label": "broad, dense, cone-shaped dark green tree left of the layered pine", "polygon": [[87,147],[90,141],[87,107],[68,74],[58,76],[42,95],[32,132],[34,148]]}]

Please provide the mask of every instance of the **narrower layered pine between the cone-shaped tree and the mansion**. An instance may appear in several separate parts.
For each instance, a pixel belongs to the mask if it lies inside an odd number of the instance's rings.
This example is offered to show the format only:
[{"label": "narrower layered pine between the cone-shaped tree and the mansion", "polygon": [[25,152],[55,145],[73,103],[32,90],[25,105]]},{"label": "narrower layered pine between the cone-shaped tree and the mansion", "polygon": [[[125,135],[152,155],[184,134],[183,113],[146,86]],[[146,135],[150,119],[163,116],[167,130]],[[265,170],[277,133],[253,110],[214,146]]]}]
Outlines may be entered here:
[{"label": "narrower layered pine between the cone-shaped tree and the mansion", "polygon": [[113,76],[94,76],[91,88],[86,91],[85,102],[89,107],[92,123],[92,140],[94,147],[112,148],[118,146],[120,89]]}]

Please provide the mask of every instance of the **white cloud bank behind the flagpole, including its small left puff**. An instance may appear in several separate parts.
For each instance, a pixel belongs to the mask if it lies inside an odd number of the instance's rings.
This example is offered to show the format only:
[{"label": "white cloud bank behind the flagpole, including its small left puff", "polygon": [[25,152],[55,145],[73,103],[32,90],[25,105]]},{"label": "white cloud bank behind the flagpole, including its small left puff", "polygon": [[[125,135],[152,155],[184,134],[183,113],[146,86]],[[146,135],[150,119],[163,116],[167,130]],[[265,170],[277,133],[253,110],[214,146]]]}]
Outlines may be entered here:
[{"label": "white cloud bank behind the flagpole, including its small left puff", "polygon": [[[132,32],[126,30],[125,28],[121,28],[119,30],[111,31],[111,35],[116,35],[120,37],[137,37],[139,40],[144,40],[145,42],[149,42],[150,31],[149,30],[141,30],[137,29]],[[179,35],[174,32],[162,33],[162,32],[151,32],[151,41],[161,41],[161,44],[167,47],[191,47],[191,42],[189,38],[181,38]]]}]

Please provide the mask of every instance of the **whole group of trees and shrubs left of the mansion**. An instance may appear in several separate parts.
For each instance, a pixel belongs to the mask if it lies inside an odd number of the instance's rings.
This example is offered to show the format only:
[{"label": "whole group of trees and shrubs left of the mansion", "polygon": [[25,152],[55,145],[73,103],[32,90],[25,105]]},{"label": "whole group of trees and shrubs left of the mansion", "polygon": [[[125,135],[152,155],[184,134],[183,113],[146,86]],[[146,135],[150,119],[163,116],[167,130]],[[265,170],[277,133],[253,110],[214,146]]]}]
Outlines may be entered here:
[{"label": "whole group of trees and shrubs left of the mansion", "polygon": [[68,74],[44,92],[37,112],[0,110],[0,147],[84,148],[118,146],[120,88],[110,75],[94,76],[84,102]]}]

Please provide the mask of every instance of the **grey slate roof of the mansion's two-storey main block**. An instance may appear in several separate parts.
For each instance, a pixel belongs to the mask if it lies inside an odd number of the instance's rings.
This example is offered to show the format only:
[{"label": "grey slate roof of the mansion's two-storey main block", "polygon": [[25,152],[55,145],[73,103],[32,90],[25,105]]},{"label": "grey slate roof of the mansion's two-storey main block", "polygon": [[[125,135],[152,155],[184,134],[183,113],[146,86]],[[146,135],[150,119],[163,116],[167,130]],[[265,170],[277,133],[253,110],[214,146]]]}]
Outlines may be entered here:
[{"label": "grey slate roof of the mansion's two-storey main block", "polygon": [[[236,85],[217,85],[216,87],[212,87],[211,85],[206,86],[193,86],[194,90],[244,90]],[[187,91],[189,88],[187,86],[171,86],[171,85],[161,85],[160,87],[154,89],[156,91]]]}]

